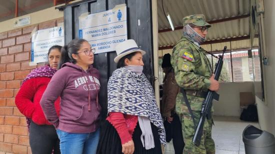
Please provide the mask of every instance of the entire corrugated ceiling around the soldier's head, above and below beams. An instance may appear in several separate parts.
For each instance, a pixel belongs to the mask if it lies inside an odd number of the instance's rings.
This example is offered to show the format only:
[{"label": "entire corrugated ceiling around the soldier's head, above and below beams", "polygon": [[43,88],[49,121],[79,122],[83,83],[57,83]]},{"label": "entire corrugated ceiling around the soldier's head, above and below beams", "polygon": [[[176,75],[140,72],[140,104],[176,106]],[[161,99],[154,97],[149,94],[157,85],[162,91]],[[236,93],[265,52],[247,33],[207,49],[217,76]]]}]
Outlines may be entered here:
[{"label": "entire corrugated ceiling around the soldier's head, above and below beams", "polygon": [[[164,16],[161,2],[162,0],[157,0],[158,30],[170,28],[169,22]],[[249,14],[249,0],[163,0],[163,8],[166,15],[170,14],[174,27],[179,27],[182,26],[182,18],[190,14],[204,14],[207,21]],[[158,46],[174,45],[180,39],[181,32],[181,29],[159,32]],[[213,23],[208,30],[206,40],[248,35],[249,17],[245,17]],[[234,47],[232,47],[234,49],[248,48],[250,47],[250,40],[232,41],[232,44],[234,44]],[[222,46],[222,43],[212,44],[212,49],[219,50],[220,46]]]}]

